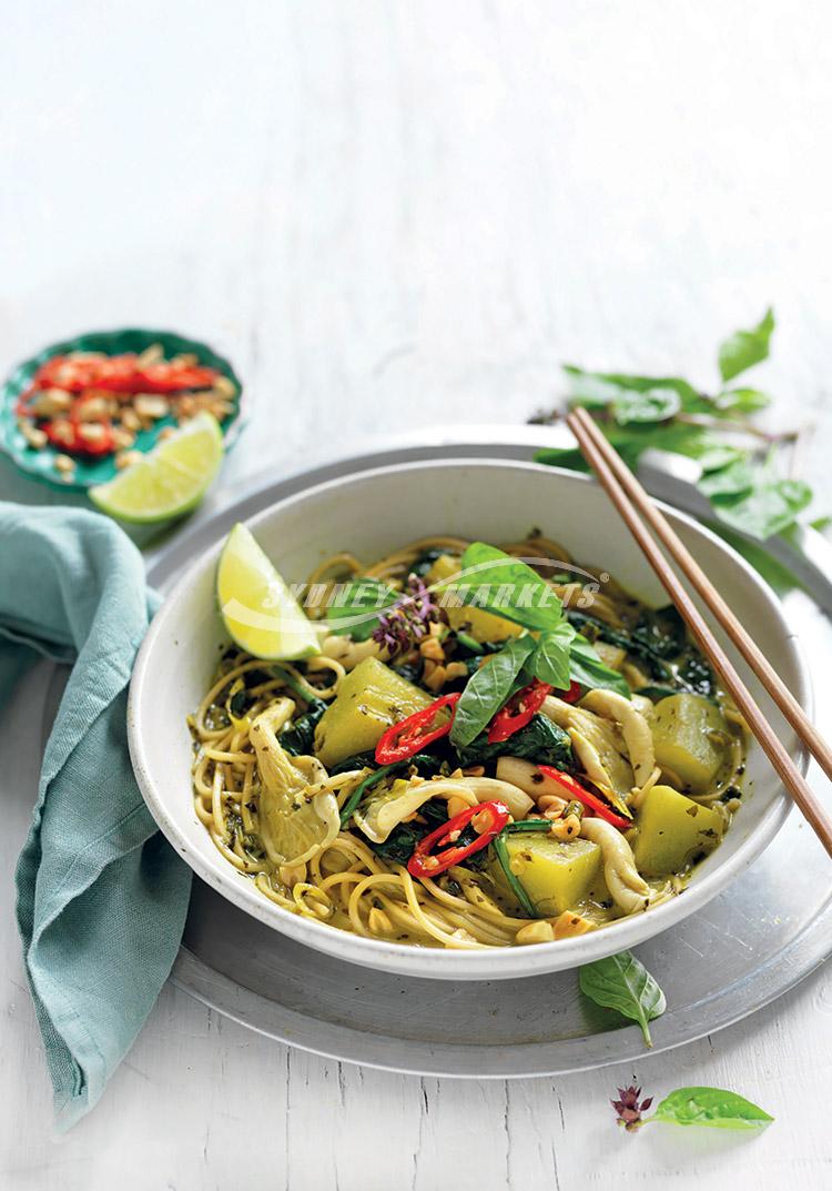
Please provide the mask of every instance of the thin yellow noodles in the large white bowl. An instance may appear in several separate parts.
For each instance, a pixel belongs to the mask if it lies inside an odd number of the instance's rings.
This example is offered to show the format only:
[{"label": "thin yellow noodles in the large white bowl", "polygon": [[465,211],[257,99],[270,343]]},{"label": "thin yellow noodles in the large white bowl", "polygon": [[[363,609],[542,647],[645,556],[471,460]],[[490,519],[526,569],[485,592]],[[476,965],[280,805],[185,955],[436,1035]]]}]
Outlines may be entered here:
[{"label": "thin yellow noodles in the large white bowl", "polygon": [[[464,540],[453,536],[427,536],[369,565],[364,565],[349,551],[342,551],[324,560],[313,570],[307,580],[307,591],[312,585],[331,582],[339,576],[342,579],[365,576],[381,580],[394,590],[401,590],[420,560],[436,559],[442,554],[457,559],[467,545]],[[570,578],[568,582],[562,581],[563,572],[569,569],[571,560],[559,543],[536,531],[526,541],[511,543],[503,549],[532,565],[538,574],[550,582],[564,607],[583,610],[590,604],[595,623],[606,624],[614,630],[626,631],[636,623],[640,605],[608,580],[608,576],[605,575],[603,592],[595,591],[598,586],[595,584],[590,590],[584,590],[578,578],[582,574],[581,568],[573,570],[575,580]],[[556,582],[552,575],[561,581]],[[338,648],[330,650],[337,654],[337,657],[327,655],[327,641],[337,643]],[[265,824],[261,824],[263,774],[251,737],[252,724],[259,715],[268,711],[274,732],[280,732],[283,727],[294,730],[308,709],[319,707],[321,700],[331,704],[338,697],[349,672],[362,657],[371,656],[374,653],[377,656],[380,653],[377,648],[375,650],[370,648],[373,642],[362,649],[355,649],[350,647],[349,637],[331,637],[327,641],[324,642],[324,653],[298,663],[286,661],[269,663],[249,657],[233,648],[226,651],[205,698],[193,716],[188,717],[194,738],[192,779],[196,817],[224,859],[243,877],[252,880],[262,896],[283,910],[368,939],[463,950],[512,946],[518,931],[528,925],[530,918],[519,917],[513,912],[512,906],[506,903],[505,891],[501,891],[499,883],[495,884],[488,866],[483,869],[469,867],[467,863],[453,865],[438,877],[414,878],[404,863],[382,855],[377,850],[379,846],[374,846],[373,841],[362,834],[355,821],[350,821],[348,827],[330,836],[329,843],[317,849],[307,849],[305,853],[296,849],[294,855],[308,855],[306,862],[280,863],[270,855],[268,835],[263,831]],[[431,648],[436,650],[436,646]],[[615,653],[617,650],[613,650],[613,654]],[[624,650],[618,653],[623,655]],[[386,657],[387,654],[382,651],[381,656]],[[413,650],[415,662],[425,667],[432,656],[424,647],[421,650]],[[443,656],[442,650],[439,656]],[[464,667],[463,669],[468,674]],[[631,657],[623,660],[620,672],[634,686],[648,685],[649,675],[643,672],[640,660],[633,661]],[[437,691],[440,688],[442,681],[436,686]],[[234,700],[243,705],[242,711]],[[727,722],[727,730],[721,734],[725,736],[724,742],[717,741],[725,749],[725,762],[712,785],[705,792],[690,797],[702,807],[718,810],[724,828],[727,828],[731,815],[726,807],[736,804],[740,797],[738,785],[744,772],[745,744],[742,719],[737,716],[736,709],[721,693],[718,700]],[[649,706],[648,700],[642,703]],[[238,710],[232,710],[234,707]],[[717,732],[717,737],[719,736],[720,732]],[[620,736],[615,738],[619,740]],[[258,738],[258,748],[261,744],[262,741]],[[312,753],[311,747],[308,752]],[[301,772],[302,760],[288,756],[296,774]],[[623,760],[625,765],[630,765],[626,755]],[[302,798],[296,799],[295,807],[315,805],[317,799],[324,798],[334,799],[334,805],[340,811],[352,798],[358,785],[374,774],[373,765],[365,765],[363,757],[356,759],[356,763],[350,767],[343,767],[343,772],[331,774],[318,762],[309,763],[313,771],[315,766],[318,767],[319,777],[313,772]],[[464,773],[482,774],[484,768],[482,765],[469,766]],[[453,781],[461,782],[490,780],[467,778],[463,771],[451,765],[442,775],[449,774]],[[384,780],[388,779],[383,779],[373,790],[383,791]],[[389,778],[389,782],[393,780],[393,777]],[[632,811],[638,812],[644,799],[659,781],[676,791],[686,790],[680,774],[674,772],[673,767],[656,763],[646,781],[640,786],[634,782],[630,788],[627,799]],[[430,785],[427,781],[418,786],[419,790],[426,791],[428,799]],[[445,782],[445,787],[448,785],[449,782]],[[417,787],[415,780],[412,786]],[[451,797],[443,790],[437,790],[437,798]],[[515,793],[524,797],[519,788],[515,788]],[[457,806],[473,804],[476,800],[476,796],[467,786],[459,786],[459,793],[453,797]],[[526,798],[526,803],[530,802],[532,799]],[[549,803],[542,802],[540,806],[545,809],[546,805],[552,806],[562,802],[557,798],[552,800],[550,794]],[[436,799],[433,805],[437,805]],[[538,813],[533,804],[532,810]],[[557,817],[558,811],[559,807],[546,813]],[[417,828],[419,821],[425,822],[419,807],[408,818],[411,822],[415,818]],[[426,829],[423,825],[420,830],[424,834]],[[478,855],[484,856],[484,853]],[[689,872],[686,869],[662,880],[649,881],[650,905],[658,905],[677,896],[684,888],[688,877]],[[570,913],[573,910],[580,913],[590,928],[623,916],[620,909],[608,897],[592,904],[570,908]]]}]

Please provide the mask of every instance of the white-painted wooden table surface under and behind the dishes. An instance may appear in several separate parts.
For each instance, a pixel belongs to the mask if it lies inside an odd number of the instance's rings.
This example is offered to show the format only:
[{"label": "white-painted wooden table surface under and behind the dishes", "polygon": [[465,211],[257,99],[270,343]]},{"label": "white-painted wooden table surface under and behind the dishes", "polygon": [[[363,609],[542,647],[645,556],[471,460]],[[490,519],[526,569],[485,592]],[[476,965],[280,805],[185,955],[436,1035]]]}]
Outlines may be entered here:
[{"label": "white-painted wooden table surface under and behind the dishes", "polygon": [[[830,36],[827,5],[788,0],[8,4],[0,366],[95,326],[215,342],[252,399],[232,493],[287,450],[523,420],[563,360],[707,384],[771,301],[765,384],[783,420],[819,419],[803,467],[828,510]],[[555,1084],[327,1062],[168,986],[54,1137],[12,915],[42,686],[0,721],[2,1187],[832,1185],[828,967],[702,1042]],[[730,1086],[777,1121],[627,1136],[607,1098],[632,1078]]]}]

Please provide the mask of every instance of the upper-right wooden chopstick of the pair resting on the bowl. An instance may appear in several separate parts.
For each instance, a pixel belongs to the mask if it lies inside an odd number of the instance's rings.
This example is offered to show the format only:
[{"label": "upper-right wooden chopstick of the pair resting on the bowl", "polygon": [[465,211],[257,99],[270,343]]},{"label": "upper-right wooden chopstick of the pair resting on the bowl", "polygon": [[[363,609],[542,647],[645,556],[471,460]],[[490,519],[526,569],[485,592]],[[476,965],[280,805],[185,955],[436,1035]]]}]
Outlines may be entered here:
[{"label": "upper-right wooden chopstick of the pair resting on the bowl", "polygon": [[642,517],[648,522],[656,537],[659,540],[674,562],[678,566],[680,570],[683,572],[694,590],[699,592],[702,600],[713,612],[717,621],[722,625],[728,637],[731,637],[737,649],[740,651],[782,713],[792,724],[797,736],[800,736],[812,756],[824,769],[826,777],[832,778],[832,748],[830,748],[828,743],[820,735],[795,697],[786,686],[780,674],[771,666],[771,662],[768,657],[765,657],[756,641],[749,636],[742,623],[725,603],[700,565],[683,544],[670,522],[651,500],[618,451],[614,450],[607,438],[598,431],[595,423],[587,414],[586,410],[582,410],[581,413],[581,422],[588,422],[592,430],[596,432],[599,450],[603,454],[606,462],[609,464],[609,469],[614,474],[618,482],[636,505]]}]

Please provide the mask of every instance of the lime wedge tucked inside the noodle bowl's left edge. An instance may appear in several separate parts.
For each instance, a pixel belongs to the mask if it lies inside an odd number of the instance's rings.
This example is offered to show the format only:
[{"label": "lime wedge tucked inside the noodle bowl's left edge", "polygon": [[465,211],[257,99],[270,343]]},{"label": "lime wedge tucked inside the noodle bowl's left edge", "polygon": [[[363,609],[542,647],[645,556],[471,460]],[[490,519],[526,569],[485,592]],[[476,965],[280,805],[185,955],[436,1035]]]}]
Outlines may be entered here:
[{"label": "lime wedge tucked inside the noodle bowl's left edge", "polygon": [[320,653],[318,632],[245,525],[234,525],[217,569],[229,636],[254,657],[289,661]]}]

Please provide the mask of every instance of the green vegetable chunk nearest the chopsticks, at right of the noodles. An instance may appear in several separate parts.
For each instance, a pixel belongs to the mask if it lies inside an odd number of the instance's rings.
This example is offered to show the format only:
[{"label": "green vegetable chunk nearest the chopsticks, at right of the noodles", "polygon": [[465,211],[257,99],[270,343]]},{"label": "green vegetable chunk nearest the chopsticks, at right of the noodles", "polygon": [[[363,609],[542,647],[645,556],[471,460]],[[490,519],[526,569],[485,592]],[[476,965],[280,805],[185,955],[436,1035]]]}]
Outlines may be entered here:
[{"label": "green vegetable chunk nearest the chopsticks, at right of the noodles", "polygon": [[719,707],[696,694],[671,694],[656,704],[652,732],[656,761],[690,793],[705,793],[725,761],[725,746],[713,735],[727,732]]}]

